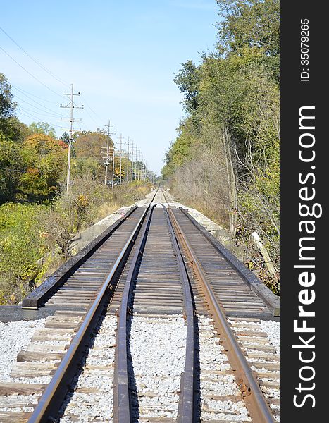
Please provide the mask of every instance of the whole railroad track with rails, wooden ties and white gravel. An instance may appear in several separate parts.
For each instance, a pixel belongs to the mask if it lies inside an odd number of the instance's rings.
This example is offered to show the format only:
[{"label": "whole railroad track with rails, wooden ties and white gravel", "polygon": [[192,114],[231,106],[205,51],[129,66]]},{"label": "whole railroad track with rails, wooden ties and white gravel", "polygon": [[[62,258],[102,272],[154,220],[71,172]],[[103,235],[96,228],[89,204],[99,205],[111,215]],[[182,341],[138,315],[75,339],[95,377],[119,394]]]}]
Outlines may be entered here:
[{"label": "whole railroad track with rails, wooden ties and white gravel", "polygon": [[165,205],[159,190],[27,298],[58,309],[0,384],[0,422],[277,419],[275,298]]}]

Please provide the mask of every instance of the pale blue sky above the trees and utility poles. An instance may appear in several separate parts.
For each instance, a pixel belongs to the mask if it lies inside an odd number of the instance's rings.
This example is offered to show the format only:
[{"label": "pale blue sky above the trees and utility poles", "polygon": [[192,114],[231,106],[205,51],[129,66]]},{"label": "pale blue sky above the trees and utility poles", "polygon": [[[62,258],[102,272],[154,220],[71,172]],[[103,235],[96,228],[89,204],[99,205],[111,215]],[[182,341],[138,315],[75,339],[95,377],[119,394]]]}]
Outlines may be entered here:
[{"label": "pale blue sky above the trees and utility poles", "polygon": [[[57,135],[67,125],[64,92],[75,97],[75,128],[104,128],[137,143],[149,168],[158,174],[184,116],[182,96],[173,82],[188,59],[213,50],[218,6],[215,0],[163,1],[6,1],[0,27],[54,76],[0,31],[0,72],[13,85],[18,118],[46,121]],[[21,91],[23,90],[23,92]],[[28,96],[28,97],[27,97]],[[35,97],[37,96],[37,97]],[[100,154],[101,156],[101,154]]]}]

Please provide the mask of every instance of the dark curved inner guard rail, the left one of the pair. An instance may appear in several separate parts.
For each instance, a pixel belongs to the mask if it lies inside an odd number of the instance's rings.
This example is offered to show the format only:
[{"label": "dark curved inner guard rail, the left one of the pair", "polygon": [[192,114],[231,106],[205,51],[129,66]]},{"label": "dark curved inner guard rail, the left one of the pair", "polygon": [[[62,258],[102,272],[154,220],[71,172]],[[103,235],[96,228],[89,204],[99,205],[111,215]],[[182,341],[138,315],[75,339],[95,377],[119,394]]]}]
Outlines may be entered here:
[{"label": "dark curved inner guard rail, the left one of the pair", "polygon": [[131,402],[129,395],[129,381],[128,381],[128,357],[127,357],[127,317],[130,293],[132,290],[132,281],[135,278],[139,258],[142,257],[144,245],[147,240],[147,233],[149,224],[151,222],[151,215],[155,204],[149,207],[147,216],[145,218],[144,228],[141,232],[141,239],[135,251],[132,263],[125,280],[125,287],[123,288],[123,296],[120,303],[118,314],[118,330],[116,333],[116,369],[114,372],[114,398],[113,398],[113,422],[116,423],[130,423]]}]

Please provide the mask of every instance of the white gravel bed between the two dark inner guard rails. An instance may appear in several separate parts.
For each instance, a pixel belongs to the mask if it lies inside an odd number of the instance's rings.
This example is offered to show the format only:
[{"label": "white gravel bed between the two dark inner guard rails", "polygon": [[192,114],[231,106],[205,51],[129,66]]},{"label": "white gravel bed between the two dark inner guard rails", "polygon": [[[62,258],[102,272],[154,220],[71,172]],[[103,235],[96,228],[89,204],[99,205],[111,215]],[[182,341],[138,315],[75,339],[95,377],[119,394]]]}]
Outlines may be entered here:
[{"label": "white gravel bed between the two dark inner guard rails", "polygon": [[185,344],[186,326],[181,315],[132,319],[130,353],[138,396],[138,405],[133,407],[135,418],[137,406],[139,417],[177,417]]}]

